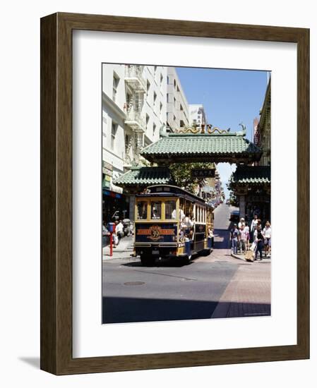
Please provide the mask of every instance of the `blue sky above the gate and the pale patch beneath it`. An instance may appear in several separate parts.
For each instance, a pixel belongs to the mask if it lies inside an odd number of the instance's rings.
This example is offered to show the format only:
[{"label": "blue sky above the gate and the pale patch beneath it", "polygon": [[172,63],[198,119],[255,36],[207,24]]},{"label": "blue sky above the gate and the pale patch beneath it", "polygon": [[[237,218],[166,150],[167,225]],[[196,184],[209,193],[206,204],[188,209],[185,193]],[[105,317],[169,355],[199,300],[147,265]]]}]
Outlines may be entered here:
[{"label": "blue sky above the gate and the pale patch beneath it", "polygon": [[[266,86],[267,71],[177,67],[177,75],[189,104],[203,104],[207,123],[231,132],[246,126],[246,138],[253,140],[253,119],[259,116]],[[227,181],[235,170],[229,163],[217,164],[226,198]]]}]

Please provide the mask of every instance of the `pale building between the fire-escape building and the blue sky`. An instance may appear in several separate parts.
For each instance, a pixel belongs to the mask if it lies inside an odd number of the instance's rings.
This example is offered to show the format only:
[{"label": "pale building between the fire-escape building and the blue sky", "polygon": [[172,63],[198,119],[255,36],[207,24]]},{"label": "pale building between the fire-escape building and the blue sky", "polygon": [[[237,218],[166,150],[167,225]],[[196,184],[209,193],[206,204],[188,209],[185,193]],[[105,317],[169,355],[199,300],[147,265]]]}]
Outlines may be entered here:
[{"label": "pale building between the fire-escape building and the blue sky", "polygon": [[167,126],[176,131],[189,126],[189,104],[174,67],[167,68]]}]

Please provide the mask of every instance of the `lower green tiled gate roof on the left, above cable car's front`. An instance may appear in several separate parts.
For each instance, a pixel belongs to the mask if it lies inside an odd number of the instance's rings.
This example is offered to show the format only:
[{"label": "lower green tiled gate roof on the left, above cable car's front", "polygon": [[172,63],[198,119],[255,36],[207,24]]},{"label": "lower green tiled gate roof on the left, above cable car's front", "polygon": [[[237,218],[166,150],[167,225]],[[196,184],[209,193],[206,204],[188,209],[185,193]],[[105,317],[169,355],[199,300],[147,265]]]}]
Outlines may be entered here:
[{"label": "lower green tiled gate roof on the left, above cable car's front", "polygon": [[117,186],[150,186],[173,183],[167,167],[134,167],[114,181]]}]

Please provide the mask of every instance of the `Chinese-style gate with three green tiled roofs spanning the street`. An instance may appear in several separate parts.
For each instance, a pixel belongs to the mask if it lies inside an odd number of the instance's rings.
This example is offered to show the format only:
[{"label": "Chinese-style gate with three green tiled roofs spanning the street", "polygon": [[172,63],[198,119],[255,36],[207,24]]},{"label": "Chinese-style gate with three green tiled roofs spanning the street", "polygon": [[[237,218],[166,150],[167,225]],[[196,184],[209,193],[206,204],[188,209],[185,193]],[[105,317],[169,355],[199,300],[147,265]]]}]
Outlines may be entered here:
[{"label": "Chinese-style gate with three green tiled roofs spanning the street", "polygon": [[[242,126],[242,125],[241,125]],[[134,195],[154,184],[173,184],[169,164],[186,162],[237,164],[229,188],[237,196],[240,217],[253,211],[252,198],[261,189],[257,198],[270,203],[270,176],[262,166],[255,166],[261,159],[262,150],[246,139],[246,128],[231,132],[212,126],[186,128],[177,133],[161,131],[161,138],[140,151],[140,155],[157,166],[132,166],[114,184],[121,186],[130,195],[130,214],[133,214]],[[268,210],[265,210],[267,216]]]}]

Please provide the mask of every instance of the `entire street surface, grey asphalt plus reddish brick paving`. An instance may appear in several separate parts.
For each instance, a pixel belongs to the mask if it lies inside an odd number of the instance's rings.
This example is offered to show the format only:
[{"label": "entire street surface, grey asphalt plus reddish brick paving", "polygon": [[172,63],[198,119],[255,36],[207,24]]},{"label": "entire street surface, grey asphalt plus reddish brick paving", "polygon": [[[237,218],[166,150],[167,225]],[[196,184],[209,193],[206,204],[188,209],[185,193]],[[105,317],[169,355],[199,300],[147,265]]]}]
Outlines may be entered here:
[{"label": "entire street surface, grey asphalt plus reddish brick paving", "polygon": [[[229,212],[215,209],[215,247],[189,265],[136,257],[103,260],[102,322],[148,322],[270,315],[270,262],[231,256]],[[119,247],[118,247],[119,249]]]}]

